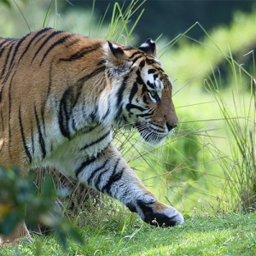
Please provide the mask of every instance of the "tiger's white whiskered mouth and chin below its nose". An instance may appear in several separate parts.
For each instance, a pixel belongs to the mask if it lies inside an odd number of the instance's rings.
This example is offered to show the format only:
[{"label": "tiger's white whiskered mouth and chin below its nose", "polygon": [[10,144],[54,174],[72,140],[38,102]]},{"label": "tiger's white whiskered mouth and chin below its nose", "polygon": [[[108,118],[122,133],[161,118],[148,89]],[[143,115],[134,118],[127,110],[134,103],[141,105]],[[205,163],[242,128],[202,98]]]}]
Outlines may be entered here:
[{"label": "tiger's white whiskered mouth and chin below its nose", "polygon": [[154,145],[163,143],[166,137],[169,135],[169,133],[166,132],[154,131],[154,129],[149,124],[136,124],[135,127],[137,128],[137,131],[139,131],[141,137],[143,137],[145,142]]}]

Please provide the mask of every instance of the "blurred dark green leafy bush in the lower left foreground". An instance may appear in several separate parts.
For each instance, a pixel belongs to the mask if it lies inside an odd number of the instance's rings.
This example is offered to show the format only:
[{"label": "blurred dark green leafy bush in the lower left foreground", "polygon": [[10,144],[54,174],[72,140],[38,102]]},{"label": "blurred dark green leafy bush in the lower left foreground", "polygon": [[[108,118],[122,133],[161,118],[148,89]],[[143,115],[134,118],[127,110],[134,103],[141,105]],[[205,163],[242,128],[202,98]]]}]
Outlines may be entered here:
[{"label": "blurred dark green leafy bush in the lower left foreground", "polygon": [[21,177],[17,169],[0,167],[0,234],[8,236],[16,224],[25,220],[30,226],[50,226],[63,247],[67,247],[67,236],[82,243],[79,230],[56,207],[56,196],[51,177],[44,177],[42,192],[38,193],[31,175]]}]

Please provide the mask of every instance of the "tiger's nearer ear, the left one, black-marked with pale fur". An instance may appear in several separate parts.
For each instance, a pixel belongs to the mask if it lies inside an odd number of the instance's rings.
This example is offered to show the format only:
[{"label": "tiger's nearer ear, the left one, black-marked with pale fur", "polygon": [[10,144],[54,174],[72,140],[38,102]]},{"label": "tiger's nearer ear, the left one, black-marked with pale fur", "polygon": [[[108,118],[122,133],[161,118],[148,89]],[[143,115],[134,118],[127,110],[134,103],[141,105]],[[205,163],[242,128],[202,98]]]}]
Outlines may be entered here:
[{"label": "tiger's nearer ear, the left one, black-marked with pale fur", "polygon": [[119,45],[107,41],[103,45],[103,49],[105,51],[105,64],[113,76],[120,76],[130,71],[131,61],[128,61],[128,56],[125,55],[124,50]]}]

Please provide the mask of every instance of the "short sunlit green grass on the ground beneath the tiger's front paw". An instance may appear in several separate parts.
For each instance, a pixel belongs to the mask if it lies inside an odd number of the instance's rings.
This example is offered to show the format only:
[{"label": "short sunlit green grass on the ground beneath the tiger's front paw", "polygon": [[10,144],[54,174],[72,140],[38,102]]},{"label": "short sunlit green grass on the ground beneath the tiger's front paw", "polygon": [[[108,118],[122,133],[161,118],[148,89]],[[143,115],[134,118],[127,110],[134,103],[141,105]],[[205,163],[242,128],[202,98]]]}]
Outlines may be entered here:
[{"label": "short sunlit green grass on the ground beneath the tiger's front paw", "polygon": [[112,213],[111,217],[99,214],[80,218],[86,218],[81,228],[83,245],[69,241],[69,247],[63,250],[54,235],[46,238],[34,235],[33,243],[0,249],[0,255],[256,254],[255,213],[219,218],[195,212],[183,225],[165,229],[143,224],[136,214],[123,210]]}]

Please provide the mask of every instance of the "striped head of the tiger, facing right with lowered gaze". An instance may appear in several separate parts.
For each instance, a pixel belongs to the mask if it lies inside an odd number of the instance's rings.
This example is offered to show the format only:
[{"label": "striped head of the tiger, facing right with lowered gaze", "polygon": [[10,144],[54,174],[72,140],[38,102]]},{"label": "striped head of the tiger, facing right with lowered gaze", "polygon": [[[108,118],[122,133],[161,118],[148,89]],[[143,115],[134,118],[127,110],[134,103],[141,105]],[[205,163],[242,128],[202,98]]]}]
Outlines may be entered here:
[{"label": "striped head of the tiger, facing right with lowered gaze", "polygon": [[107,42],[104,49],[117,107],[115,121],[136,127],[148,143],[162,143],[177,126],[177,114],[172,80],[156,58],[154,41],[149,38],[137,49]]}]

